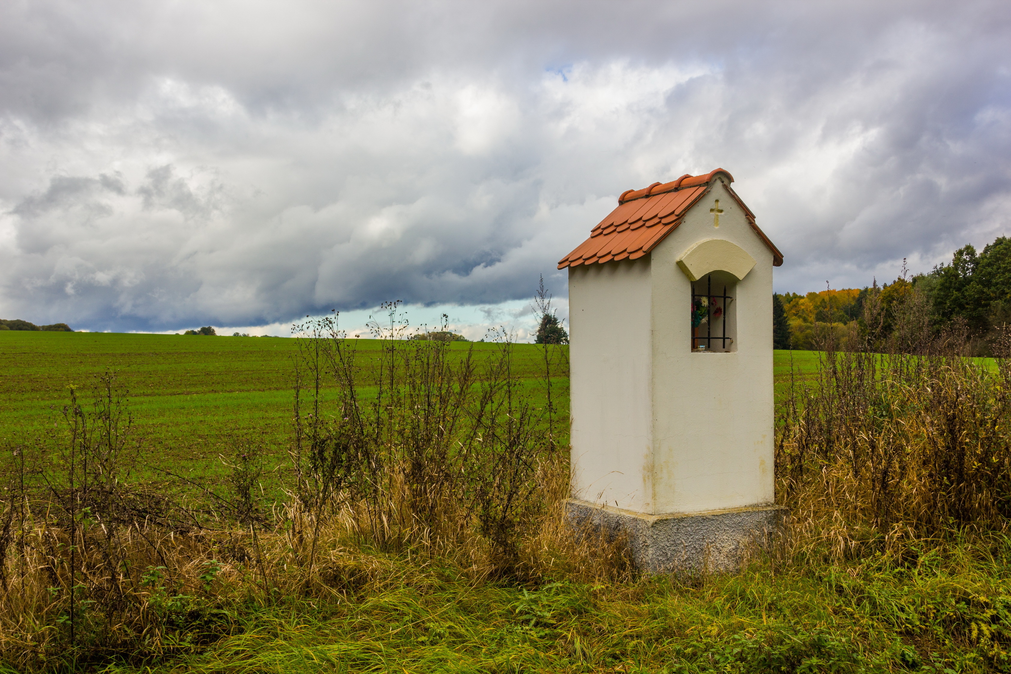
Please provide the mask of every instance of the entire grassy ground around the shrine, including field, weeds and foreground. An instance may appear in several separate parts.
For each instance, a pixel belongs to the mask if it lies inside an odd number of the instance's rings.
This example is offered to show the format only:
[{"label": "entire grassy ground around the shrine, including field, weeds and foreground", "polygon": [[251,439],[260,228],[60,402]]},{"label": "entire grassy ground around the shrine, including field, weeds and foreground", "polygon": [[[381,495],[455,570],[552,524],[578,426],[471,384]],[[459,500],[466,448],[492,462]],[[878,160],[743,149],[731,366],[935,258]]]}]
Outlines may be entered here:
[{"label": "entire grassy ground around the shrine, including field, weeds and foreground", "polygon": [[[775,352],[787,534],[642,577],[559,516],[540,347],[356,341],[320,420],[294,339],[0,332],[0,672],[1011,671],[1003,360]],[[203,492],[119,472],[107,369],[142,462]]]}]

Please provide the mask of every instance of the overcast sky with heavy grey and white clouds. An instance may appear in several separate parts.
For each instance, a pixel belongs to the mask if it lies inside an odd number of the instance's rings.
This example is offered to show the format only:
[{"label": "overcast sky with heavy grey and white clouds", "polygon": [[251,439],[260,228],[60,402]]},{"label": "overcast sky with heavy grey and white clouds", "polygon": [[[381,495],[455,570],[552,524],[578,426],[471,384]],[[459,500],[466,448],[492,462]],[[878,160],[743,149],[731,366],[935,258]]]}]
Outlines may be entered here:
[{"label": "overcast sky with heavy grey and white clouds", "polygon": [[927,271],[1011,234],[1009,8],[7,0],[0,317],[402,300],[475,336],[541,273],[564,316],[555,264],[618,194],[716,167],[778,291]]}]

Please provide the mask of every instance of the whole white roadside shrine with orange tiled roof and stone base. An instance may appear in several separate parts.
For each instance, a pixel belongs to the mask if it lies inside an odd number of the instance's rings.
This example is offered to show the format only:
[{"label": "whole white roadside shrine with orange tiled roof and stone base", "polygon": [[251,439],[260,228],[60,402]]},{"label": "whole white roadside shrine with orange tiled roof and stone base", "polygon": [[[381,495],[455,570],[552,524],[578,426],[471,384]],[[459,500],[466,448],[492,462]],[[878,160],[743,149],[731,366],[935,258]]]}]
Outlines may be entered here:
[{"label": "whole white roadside shrine with orange tiled roof and stone base", "polygon": [[648,571],[730,568],[776,525],[772,267],[723,169],[628,190],[565,256],[573,520]]}]

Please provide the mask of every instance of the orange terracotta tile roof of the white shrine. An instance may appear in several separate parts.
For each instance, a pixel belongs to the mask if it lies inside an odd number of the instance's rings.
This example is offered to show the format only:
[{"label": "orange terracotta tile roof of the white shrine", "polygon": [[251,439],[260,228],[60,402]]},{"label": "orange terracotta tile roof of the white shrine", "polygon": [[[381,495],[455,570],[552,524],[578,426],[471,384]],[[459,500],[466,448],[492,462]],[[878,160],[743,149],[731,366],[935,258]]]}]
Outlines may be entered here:
[{"label": "orange terracotta tile roof of the white shrine", "polygon": [[[677,229],[681,217],[708,191],[717,173],[734,178],[723,169],[706,175],[682,175],[671,182],[654,182],[649,187],[626,190],[618,197],[618,207],[592,229],[589,238],[558,262],[558,268],[575,267],[594,262],[635,260],[656,248]],[[727,191],[744,209],[751,229],[772,251],[772,264],[783,264],[783,253],[772,245],[755,225],[755,217],[740,197],[727,185]]]}]

